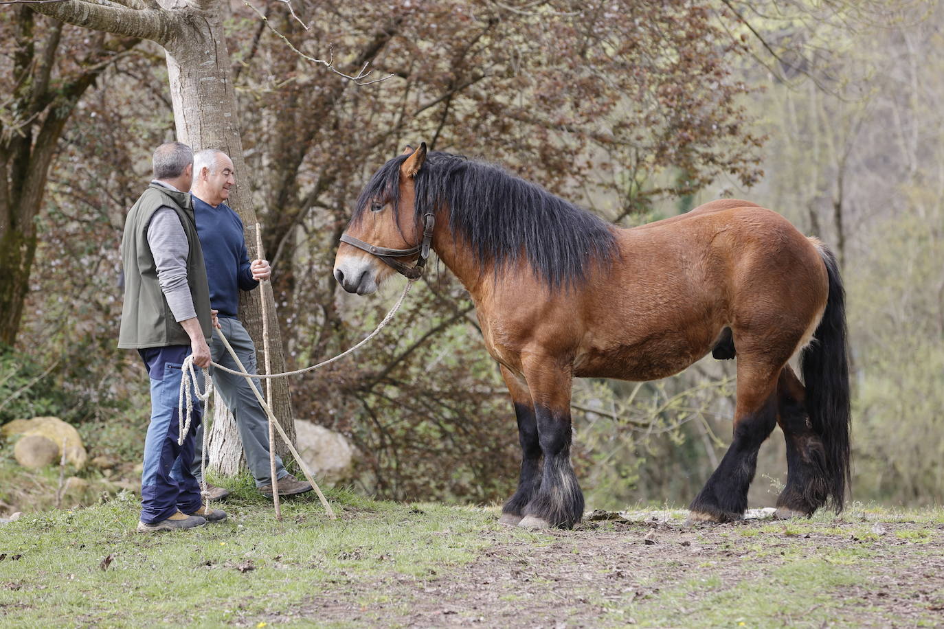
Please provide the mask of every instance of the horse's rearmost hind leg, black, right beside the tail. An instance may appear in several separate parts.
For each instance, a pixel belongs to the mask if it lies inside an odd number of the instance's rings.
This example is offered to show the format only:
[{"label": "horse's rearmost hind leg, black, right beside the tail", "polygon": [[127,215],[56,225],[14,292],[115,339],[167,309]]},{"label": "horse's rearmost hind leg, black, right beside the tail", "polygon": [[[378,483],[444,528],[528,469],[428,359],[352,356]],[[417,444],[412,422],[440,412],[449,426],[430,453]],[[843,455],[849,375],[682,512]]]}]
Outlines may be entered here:
[{"label": "horse's rearmost hind leg, black, right beside the tail", "polygon": [[777,383],[777,422],[786,440],[786,487],[777,498],[778,518],[811,516],[829,495],[826,453],[806,413],[805,397],[800,379],[784,367]]}]

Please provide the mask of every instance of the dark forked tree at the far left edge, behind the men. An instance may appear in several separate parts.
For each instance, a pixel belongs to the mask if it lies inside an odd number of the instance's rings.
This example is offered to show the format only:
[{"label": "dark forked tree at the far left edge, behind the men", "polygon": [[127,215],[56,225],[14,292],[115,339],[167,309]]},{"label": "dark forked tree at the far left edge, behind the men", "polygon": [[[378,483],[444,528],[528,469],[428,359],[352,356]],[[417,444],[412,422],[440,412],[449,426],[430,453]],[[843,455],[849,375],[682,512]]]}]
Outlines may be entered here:
[{"label": "dark forked tree at the far left edge, behind the men", "polygon": [[57,142],[76,104],[134,37],[97,34],[24,6],[0,13],[0,344],[20,329],[36,254],[36,218]]}]

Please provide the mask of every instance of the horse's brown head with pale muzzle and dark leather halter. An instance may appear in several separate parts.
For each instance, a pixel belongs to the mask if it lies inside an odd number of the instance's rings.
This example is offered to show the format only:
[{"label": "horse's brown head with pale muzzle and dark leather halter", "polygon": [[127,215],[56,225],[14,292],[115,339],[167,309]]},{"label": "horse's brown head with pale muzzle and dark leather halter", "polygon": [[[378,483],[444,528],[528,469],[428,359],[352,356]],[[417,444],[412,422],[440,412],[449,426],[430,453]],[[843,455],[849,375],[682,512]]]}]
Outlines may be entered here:
[{"label": "horse's brown head with pale muzzle and dark leather halter", "polygon": [[[375,292],[396,271],[407,277],[422,273],[432,224],[431,218],[426,224],[417,220],[413,180],[425,159],[426,142],[415,151],[408,146],[380,167],[362,190],[334,258],[334,277],[347,292]],[[403,264],[414,259],[419,267]]]}]

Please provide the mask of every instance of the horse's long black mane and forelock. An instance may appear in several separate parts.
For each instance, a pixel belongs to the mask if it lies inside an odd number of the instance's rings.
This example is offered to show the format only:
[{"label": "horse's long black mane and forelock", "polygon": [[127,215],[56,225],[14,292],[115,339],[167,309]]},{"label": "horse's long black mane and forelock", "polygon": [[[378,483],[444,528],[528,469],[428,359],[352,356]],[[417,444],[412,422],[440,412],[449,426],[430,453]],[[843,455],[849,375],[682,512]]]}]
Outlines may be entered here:
[{"label": "horse's long black mane and forelock", "polygon": [[[399,211],[400,165],[407,157],[394,157],[371,177],[352,222],[374,200]],[[590,265],[608,265],[616,255],[610,224],[492,164],[433,151],[414,190],[416,221],[449,207],[453,236],[469,242],[483,266],[498,270],[524,255],[537,277],[556,288],[582,283]]]}]

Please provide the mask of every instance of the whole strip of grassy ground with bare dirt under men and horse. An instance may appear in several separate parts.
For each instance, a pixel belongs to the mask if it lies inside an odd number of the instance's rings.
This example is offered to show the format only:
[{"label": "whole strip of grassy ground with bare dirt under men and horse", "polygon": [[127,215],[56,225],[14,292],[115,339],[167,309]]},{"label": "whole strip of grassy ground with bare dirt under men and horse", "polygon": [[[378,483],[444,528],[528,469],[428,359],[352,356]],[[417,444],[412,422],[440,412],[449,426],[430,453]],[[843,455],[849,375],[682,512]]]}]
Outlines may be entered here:
[{"label": "whole strip of grassy ground with bare dirt under men and horse", "polygon": [[329,491],[336,521],[312,497],[283,502],[277,522],[248,478],[228,486],[228,521],[193,531],[135,533],[126,492],[0,526],[0,625],[934,626],[944,609],[939,508],[547,533],[346,490]]}]

